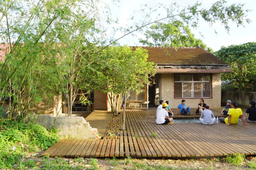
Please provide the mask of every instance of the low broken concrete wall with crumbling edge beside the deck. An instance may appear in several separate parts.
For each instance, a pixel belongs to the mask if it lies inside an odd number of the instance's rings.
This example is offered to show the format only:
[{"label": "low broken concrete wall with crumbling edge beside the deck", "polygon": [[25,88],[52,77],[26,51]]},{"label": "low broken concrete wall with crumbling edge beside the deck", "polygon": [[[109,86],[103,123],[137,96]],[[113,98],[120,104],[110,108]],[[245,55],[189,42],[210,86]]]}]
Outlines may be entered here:
[{"label": "low broken concrete wall with crumbling edge beside the deck", "polygon": [[[38,117],[38,115],[35,116]],[[62,139],[96,139],[95,128],[90,127],[89,122],[86,122],[83,117],[56,118],[51,115],[41,115],[38,119],[38,124],[46,129],[51,129],[53,122],[54,127],[60,130],[58,135]]]}]

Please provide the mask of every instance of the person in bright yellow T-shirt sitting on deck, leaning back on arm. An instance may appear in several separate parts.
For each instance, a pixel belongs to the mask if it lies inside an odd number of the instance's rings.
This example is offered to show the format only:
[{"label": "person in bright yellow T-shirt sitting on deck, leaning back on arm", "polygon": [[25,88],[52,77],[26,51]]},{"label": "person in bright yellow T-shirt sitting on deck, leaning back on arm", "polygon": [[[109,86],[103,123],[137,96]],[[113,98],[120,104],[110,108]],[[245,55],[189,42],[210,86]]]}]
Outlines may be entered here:
[{"label": "person in bright yellow T-shirt sitting on deck, leaning back on arm", "polygon": [[229,124],[236,124],[238,122],[239,118],[241,118],[244,125],[249,125],[249,124],[245,123],[245,121],[243,119],[243,112],[240,108],[237,108],[236,102],[231,103],[231,108],[229,109],[228,115],[229,115],[229,117],[227,117],[227,118],[223,118],[223,117],[219,118],[220,122],[226,123],[225,126],[229,126]]}]

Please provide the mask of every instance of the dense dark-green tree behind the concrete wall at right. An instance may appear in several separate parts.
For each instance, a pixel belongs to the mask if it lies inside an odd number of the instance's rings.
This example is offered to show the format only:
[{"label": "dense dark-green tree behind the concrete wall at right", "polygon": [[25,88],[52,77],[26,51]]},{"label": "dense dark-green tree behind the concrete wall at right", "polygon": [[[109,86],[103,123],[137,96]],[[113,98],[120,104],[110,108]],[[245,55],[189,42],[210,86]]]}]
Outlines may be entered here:
[{"label": "dense dark-green tree behind the concrete wall at right", "polygon": [[222,73],[223,89],[256,91],[256,43],[222,46],[214,54],[233,69],[232,73]]}]

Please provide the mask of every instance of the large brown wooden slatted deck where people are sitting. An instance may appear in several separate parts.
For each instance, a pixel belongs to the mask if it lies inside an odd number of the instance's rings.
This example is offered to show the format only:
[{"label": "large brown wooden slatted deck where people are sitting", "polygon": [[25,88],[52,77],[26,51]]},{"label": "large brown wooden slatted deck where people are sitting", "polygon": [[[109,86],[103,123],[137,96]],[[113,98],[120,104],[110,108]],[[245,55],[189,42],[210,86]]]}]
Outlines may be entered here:
[{"label": "large brown wooden slatted deck where people are sitting", "polygon": [[[249,126],[242,122],[230,126],[224,126],[224,123],[158,125],[155,122],[156,107],[147,110],[129,108],[125,118],[126,129],[119,131],[117,123],[122,122],[123,116],[111,117],[104,139],[60,140],[42,156],[48,153],[51,157],[201,158],[221,157],[236,152],[256,154],[256,123],[249,123]],[[199,117],[193,112],[191,116]],[[109,131],[119,134],[111,137],[107,135]],[[157,136],[151,136],[153,133],[157,133]]]}]

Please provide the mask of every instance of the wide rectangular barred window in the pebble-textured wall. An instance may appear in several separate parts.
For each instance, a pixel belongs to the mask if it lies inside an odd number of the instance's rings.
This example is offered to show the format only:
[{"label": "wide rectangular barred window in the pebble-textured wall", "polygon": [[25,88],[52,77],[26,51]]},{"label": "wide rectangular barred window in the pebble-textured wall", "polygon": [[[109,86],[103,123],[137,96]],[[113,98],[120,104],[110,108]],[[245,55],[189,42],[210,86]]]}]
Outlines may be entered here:
[{"label": "wide rectangular barred window in the pebble-textured wall", "polygon": [[212,74],[174,74],[174,98],[211,98]]}]

